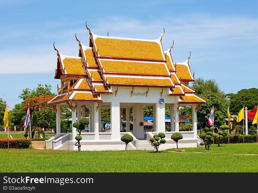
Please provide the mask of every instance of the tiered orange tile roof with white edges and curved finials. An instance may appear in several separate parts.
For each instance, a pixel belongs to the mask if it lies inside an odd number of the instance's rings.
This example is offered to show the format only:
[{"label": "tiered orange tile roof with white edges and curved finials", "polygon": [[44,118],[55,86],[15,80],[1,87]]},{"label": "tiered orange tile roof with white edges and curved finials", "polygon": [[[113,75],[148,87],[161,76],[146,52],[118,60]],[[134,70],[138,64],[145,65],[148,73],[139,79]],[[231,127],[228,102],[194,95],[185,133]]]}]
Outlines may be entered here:
[{"label": "tiered orange tile roof with white edges and curved finials", "polygon": [[170,88],[168,95],[180,96],[179,103],[205,102],[188,87],[189,81],[194,81],[190,57],[184,63],[174,63],[174,42],[163,51],[164,32],[156,40],[144,40],[98,36],[87,29],[89,46],[76,37],[79,57],[64,56],[54,46],[58,56],[55,78],[61,79],[61,89],[57,85],[58,95],[49,105],[82,100],[102,102],[102,94],[113,94],[111,86]]}]

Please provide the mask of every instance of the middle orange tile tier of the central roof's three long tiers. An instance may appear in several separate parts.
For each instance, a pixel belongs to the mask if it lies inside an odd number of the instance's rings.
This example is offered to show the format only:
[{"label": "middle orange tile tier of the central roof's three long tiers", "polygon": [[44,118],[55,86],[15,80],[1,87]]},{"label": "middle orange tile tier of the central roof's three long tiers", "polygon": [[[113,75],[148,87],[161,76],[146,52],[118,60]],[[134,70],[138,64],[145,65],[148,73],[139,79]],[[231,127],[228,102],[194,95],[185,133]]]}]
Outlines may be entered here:
[{"label": "middle orange tile tier of the central roof's three long tiers", "polygon": [[164,63],[101,60],[105,72],[169,75]]}]

